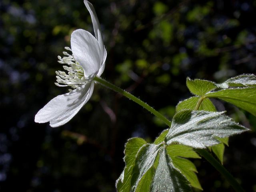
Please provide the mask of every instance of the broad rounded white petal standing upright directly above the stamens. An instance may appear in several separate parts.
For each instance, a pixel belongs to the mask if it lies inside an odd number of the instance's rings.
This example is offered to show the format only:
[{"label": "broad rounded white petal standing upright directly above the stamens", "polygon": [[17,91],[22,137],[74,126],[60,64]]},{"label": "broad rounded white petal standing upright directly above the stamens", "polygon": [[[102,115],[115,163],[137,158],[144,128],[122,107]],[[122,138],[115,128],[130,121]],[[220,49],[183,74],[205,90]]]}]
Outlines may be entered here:
[{"label": "broad rounded white petal standing upright directly above the stamens", "polygon": [[84,76],[88,78],[96,76],[102,61],[96,38],[86,30],[75,30],[71,34],[71,49],[75,60],[84,69]]}]

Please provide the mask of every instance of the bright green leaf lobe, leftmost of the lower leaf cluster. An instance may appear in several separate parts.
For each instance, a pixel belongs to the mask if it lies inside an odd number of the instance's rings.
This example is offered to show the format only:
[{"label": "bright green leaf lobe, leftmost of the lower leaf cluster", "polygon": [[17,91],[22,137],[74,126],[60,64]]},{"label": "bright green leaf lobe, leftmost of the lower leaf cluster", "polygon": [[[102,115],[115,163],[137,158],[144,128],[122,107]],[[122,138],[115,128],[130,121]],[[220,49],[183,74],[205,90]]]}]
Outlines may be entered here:
[{"label": "bright green leaf lobe, leftmost of the lower leaf cluster", "polygon": [[118,180],[116,180],[116,189],[118,192],[130,192],[131,175],[135,164],[135,157],[138,150],[146,143],[147,142],[142,138],[131,138],[126,143],[124,150],[125,167]]}]

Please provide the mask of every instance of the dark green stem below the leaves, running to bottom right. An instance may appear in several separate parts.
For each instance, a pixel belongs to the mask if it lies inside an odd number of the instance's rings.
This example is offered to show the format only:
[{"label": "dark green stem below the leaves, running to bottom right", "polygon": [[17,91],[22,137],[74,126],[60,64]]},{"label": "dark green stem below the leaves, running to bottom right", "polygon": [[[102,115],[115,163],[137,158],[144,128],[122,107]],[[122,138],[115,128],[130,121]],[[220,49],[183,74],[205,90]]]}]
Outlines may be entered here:
[{"label": "dark green stem below the leaves, running to bottom right", "polygon": [[243,188],[240,184],[236,181],[236,179],[228,172],[222,164],[220,164],[215,158],[212,157],[210,153],[207,152],[205,149],[195,149],[201,156],[203,156],[218,172],[220,172],[226,180],[232,185],[236,192],[244,192]]}]

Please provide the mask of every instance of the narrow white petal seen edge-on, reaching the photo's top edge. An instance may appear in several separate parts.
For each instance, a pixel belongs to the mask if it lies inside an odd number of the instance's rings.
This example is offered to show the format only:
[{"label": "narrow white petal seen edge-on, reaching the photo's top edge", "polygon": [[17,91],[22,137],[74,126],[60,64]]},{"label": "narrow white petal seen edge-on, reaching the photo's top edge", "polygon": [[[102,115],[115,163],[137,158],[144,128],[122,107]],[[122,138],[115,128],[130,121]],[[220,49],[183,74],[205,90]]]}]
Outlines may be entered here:
[{"label": "narrow white petal seen edge-on, reaching the photo's top edge", "polygon": [[102,34],[100,32],[100,22],[98,20],[96,11],[95,11],[93,5],[90,2],[88,2],[87,0],[84,0],[84,4],[91,15],[94,34],[100,44],[100,50],[103,52],[104,44],[103,44],[103,40],[102,40]]}]

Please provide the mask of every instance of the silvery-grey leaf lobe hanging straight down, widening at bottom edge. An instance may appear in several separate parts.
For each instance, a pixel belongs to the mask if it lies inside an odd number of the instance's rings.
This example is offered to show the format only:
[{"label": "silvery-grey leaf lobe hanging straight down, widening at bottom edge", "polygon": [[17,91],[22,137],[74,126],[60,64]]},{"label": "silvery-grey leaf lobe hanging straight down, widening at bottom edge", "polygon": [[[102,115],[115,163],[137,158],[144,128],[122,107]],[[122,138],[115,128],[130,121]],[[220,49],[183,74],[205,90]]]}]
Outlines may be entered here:
[{"label": "silvery-grey leaf lobe hanging straight down, widening at bottom edge", "polygon": [[150,192],[191,192],[191,187],[184,176],[176,170],[173,162],[162,146],[159,150],[159,162],[154,174]]}]

